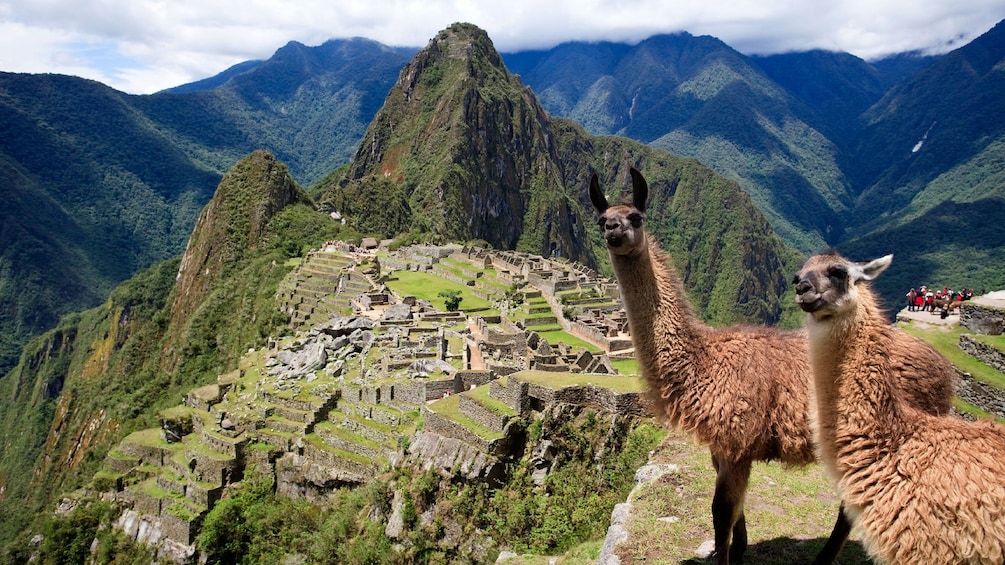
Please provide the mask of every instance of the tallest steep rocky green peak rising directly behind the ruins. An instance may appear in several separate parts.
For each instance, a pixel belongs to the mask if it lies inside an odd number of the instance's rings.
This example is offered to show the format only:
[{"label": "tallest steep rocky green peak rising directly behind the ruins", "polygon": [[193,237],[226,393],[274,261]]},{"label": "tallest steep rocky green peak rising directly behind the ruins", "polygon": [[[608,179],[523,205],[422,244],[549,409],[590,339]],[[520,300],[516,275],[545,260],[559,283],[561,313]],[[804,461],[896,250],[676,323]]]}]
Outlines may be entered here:
[{"label": "tallest steep rocky green peak rising directly behind the ruins", "polygon": [[556,154],[548,120],[487,34],[455,23],[401,70],[324,200],[363,232],[414,231],[515,248],[534,162]]}]

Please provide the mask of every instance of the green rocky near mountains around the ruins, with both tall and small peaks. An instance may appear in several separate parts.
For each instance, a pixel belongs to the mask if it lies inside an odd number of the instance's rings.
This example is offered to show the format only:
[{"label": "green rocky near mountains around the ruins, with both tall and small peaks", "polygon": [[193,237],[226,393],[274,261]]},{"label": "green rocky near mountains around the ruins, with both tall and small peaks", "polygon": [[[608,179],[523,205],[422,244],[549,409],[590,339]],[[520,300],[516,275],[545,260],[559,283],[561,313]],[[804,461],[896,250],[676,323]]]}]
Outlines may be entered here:
[{"label": "green rocky near mountains around the ruins, with both tall and small peaks", "polygon": [[[599,173],[616,201],[630,165],[646,173],[651,230],[702,316],[778,321],[793,257],[736,182],[550,119],[484,31],[455,24],[402,70],[354,161],[327,186],[347,225],[316,209],[274,156],[254,152],[223,176],[180,260],[141,271],[24,349],[0,379],[0,540],[80,487],[118,438],[156,426],[158,408],[281,335],[276,286],[291,255],[326,239],[358,240],[354,228],[410,228],[604,268],[588,179]],[[361,201],[376,205],[354,207]],[[389,210],[398,224],[370,217]]]}]

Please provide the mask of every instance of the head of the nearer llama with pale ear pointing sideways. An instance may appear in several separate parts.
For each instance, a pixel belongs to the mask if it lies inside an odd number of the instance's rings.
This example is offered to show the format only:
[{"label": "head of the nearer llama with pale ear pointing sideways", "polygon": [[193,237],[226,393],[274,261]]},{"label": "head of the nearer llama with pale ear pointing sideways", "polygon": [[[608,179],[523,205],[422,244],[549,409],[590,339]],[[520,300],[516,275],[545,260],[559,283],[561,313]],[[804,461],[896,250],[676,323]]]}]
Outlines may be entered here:
[{"label": "head of the nearer llama with pale ear pointing sideways", "polygon": [[893,255],[868,262],[835,252],[813,255],[792,279],[796,304],[815,321],[851,313],[858,307],[858,285],[878,276],[892,260]]}]

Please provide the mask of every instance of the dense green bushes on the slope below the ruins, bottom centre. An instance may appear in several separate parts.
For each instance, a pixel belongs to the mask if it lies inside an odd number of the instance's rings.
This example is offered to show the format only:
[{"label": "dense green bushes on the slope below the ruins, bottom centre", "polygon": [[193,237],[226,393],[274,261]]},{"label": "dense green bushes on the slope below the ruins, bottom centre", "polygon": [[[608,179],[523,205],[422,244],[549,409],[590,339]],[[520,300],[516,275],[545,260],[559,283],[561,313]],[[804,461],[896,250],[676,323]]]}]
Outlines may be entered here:
[{"label": "dense green bushes on the slope below the ruins, bottom centre", "polygon": [[[627,430],[624,443],[603,445],[609,422],[593,412],[563,422],[551,437],[574,449],[557,462],[553,478],[536,486],[526,463],[519,463],[505,488],[488,490],[480,482],[454,483],[431,472],[401,468],[353,490],[336,490],[331,502],[312,505],[272,494],[265,478],[242,481],[239,488],[207,515],[197,546],[207,563],[278,562],[301,555],[312,563],[453,563],[470,559],[461,550],[450,555],[438,549],[440,530],[449,519],[465,535],[483,532],[478,540],[511,540],[521,552],[561,554],[591,552],[606,530],[610,508],[631,488],[635,468],[658,442],[662,432],[649,424]],[[589,468],[588,468],[589,467]],[[599,468],[598,473],[596,469]],[[407,543],[392,549],[384,535],[399,491]],[[432,524],[418,515],[435,508]],[[492,517],[498,517],[492,518]],[[585,543],[590,542],[584,549]],[[572,555],[578,555],[573,553]],[[483,561],[483,556],[480,561]]]}]

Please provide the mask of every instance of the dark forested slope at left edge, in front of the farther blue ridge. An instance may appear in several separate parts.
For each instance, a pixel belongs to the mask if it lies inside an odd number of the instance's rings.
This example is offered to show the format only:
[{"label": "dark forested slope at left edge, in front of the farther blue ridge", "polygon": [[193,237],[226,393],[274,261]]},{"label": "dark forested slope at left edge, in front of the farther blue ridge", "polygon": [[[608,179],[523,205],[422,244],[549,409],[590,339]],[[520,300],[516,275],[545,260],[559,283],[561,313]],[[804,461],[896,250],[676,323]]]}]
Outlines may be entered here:
[{"label": "dark forested slope at left edge, in front of the farther blue ridge", "polygon": [[131,101],[0,73],[0,375],[30,336],[176,254],[219,180]]}]

